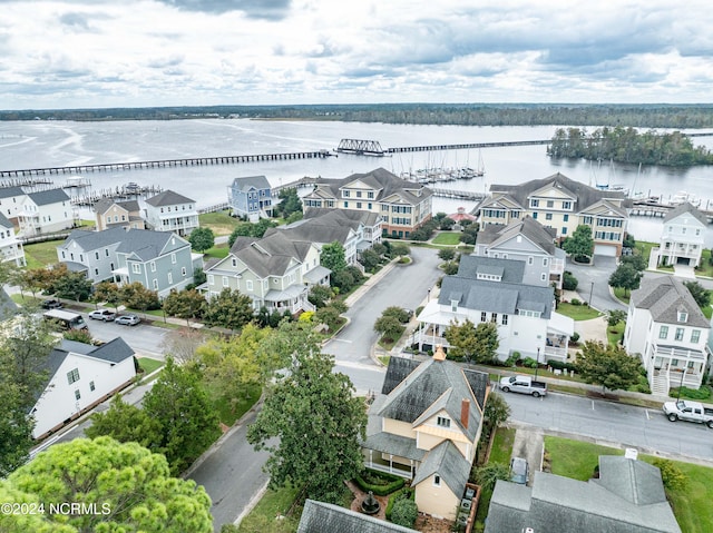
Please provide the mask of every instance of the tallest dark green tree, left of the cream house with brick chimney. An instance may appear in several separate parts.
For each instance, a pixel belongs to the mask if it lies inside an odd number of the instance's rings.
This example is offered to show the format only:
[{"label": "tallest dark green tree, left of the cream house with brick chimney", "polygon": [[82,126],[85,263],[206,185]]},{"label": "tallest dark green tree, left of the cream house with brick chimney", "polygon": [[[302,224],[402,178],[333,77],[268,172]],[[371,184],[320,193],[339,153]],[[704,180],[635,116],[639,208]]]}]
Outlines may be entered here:
[{"label": "tallest dark green tree, left of the cream house with brick chimney", "polygon": [[307,497],[335,502],[344,480],[362,470],[367,412],[349,377],[333,372],[334,361],[319,349],[313,343],[296,347],[289,375],[268,391],[247,441],[271,453],[271,486],[304,486]]}]

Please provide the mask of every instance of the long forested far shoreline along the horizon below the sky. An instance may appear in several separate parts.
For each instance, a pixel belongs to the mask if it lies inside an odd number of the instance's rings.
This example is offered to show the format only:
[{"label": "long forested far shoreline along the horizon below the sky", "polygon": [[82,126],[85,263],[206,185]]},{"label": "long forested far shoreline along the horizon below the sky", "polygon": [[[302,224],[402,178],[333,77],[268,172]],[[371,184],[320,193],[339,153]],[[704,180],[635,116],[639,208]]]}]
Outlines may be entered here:
[{"label": "long forested far shoreline along the horizon below the sky", "polygon": [[0,111],[0,120],[179,120],[228,117],[458,126],[711,128],[713,105],[373,103]]}]

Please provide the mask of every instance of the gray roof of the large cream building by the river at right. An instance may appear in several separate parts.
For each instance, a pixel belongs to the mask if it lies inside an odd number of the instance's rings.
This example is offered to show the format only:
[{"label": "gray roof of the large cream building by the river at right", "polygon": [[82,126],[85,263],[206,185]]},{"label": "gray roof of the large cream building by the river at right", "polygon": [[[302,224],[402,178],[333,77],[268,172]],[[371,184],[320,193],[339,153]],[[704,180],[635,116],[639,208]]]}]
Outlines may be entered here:
[{"label": "gray roof of the large cream building by the river at right", "polygon": [[[519,205],[527,206],[528,196],[538,191],[545,187],[554,186],[563,190],[563,193],[576,197],[575,211],[582,211],[587,207],[596,204],[603,198],[612,198],[616,200],[625,200],[625,206],[628,206],[628,200],[624,193],[615,190],[600,190],[594,187],[589,187],[579,181],[568,178],[567,176],[557,172],[547,178],[533,179],[520,185],[500,185],[492,184],[490,186],[490,193],[495,197],[496,193],[504,193],[512,197]],[[485,205],[485,203],[482,204]]]}]

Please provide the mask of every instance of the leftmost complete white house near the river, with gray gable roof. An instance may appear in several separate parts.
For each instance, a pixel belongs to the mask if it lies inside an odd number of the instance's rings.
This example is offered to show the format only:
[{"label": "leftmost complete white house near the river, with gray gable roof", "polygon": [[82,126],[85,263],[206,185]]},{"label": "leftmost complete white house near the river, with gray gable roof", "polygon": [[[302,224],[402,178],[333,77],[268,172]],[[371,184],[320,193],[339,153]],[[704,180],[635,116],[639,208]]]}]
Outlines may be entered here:
[{"label": "leftmost complete white house near the river, with gray gable roof", "polygon": [[61,231],[75,225],[69,196],[62,189],[28,193],[17,216],[23,237]]}]

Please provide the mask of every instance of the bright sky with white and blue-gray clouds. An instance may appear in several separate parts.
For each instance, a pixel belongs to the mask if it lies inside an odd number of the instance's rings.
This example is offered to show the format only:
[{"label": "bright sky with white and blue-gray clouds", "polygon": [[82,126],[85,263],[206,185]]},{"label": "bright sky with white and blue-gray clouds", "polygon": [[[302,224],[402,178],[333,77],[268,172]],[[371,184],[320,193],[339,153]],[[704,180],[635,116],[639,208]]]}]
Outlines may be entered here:
[{"label": "bright sky with white and blue-gray clouds", "polygon": [[0,109],[711,102],[709,0],[0,0]]}]

